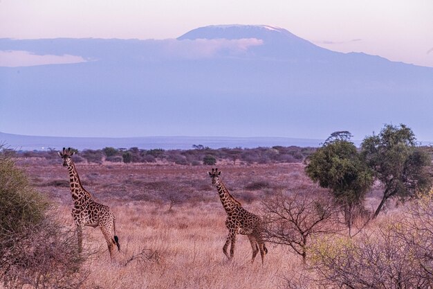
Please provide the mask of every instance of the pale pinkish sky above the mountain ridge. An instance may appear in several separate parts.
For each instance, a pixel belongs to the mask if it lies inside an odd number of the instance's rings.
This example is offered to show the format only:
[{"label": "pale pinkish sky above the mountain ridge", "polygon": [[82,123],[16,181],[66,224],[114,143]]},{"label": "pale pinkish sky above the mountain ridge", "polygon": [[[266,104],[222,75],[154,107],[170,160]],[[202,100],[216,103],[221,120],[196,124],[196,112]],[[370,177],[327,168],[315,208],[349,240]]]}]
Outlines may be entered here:
[{"label": "pale pinkish sky above the mountain ridge", "polygon": [[162,40],[201,26],[266,24],[333,51],[433,67],[432,15],[432,0],[0,0],[0,38]]}]

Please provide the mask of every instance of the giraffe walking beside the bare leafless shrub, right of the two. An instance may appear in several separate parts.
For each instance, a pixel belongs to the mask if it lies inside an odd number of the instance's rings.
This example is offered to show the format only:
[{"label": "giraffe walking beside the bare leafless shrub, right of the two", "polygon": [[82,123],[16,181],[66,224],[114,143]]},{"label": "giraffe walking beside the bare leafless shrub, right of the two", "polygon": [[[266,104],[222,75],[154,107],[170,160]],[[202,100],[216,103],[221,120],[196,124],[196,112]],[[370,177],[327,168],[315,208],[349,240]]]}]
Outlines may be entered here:
[{"label": "giraffe walking beside the bare leafless shrub, right of the two", "polygon": [[[261,265],[263,265],[264,257],[268,253],[268,249],[266,249],[263,240],[264,224],[259,216],[243,209],[241,203],[230,195],[228,189],[225,187],[221,179],[219,179],[219,175],[221,175],[221,171],[218,171],[218,168],[212,168],[212,171],[209,172],[209,176],[212,178],[212,184],[216,185],[219,198],[223,204],[225,213],[227,213],[225,227],[228,229],[228,236],[223,246],[223,252],[225,256],[231,260],[234,254],[234,245],[236,243],[237,234],[246,235],[248,236],[252,247],[251,263],[254,263],[255,257],[260,251]],[[229,243],[230,255],[227,252]]]}]

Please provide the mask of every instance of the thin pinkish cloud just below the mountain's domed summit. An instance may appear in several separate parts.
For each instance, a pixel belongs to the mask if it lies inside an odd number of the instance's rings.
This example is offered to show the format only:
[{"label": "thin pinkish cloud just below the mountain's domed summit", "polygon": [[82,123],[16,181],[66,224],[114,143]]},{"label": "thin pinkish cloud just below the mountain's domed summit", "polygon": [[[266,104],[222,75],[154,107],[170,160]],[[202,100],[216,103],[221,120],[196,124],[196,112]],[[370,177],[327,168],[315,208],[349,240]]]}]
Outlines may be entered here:
[{"label": "thin pinkish cloud just below the mountain's domed summit", "polygon": [[165,53],[183,58],[211,58],[216,55],[245,55],[252,46],[263,44],[263,40],[244,38],[227,39],[197,39],[197,40],[165,40]]}]

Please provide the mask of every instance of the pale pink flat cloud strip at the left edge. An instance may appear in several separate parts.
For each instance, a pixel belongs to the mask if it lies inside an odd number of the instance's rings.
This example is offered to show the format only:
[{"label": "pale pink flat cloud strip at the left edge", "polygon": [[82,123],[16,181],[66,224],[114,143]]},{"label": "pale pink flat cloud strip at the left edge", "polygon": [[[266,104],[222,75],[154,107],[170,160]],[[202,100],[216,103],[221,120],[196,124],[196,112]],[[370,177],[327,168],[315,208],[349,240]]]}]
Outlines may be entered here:
[{"label": "pale pink flat cloud strip at the left edge", "polygon": [[36,55],[29,51],[0,51],[0,67],[31,67],[46,64],[73,64],[86,62],[76,55]]}]

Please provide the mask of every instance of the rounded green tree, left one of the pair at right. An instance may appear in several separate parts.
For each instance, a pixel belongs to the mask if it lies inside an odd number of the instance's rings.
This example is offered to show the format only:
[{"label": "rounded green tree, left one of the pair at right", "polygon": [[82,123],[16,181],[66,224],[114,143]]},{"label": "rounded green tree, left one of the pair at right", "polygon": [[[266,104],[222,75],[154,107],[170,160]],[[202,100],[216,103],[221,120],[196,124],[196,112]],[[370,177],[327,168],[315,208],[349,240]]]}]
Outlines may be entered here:
[{"label": "rounded green tree, left one of the pair at right", "polygon": [[322,188],[327,188],[342,205],[344,221],[351,229],[353,211],[360,207],[373,184],[373,173],[362,161],[350,132],[333,132],[308,158],[306,174]]}]

